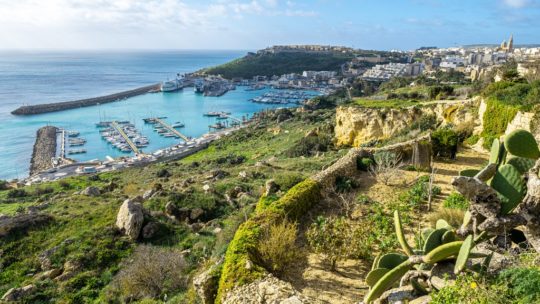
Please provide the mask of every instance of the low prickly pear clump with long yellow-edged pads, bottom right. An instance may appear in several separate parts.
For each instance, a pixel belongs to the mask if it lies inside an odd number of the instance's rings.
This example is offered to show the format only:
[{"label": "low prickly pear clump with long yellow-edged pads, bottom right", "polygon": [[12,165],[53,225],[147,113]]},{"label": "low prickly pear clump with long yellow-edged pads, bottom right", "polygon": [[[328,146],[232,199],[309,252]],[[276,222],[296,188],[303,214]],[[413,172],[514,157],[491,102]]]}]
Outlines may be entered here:
[{"label": "low prickly pear clump with long yellow-edged pads, bottom right", "polygon": [[[422,230],[420,248],[412,248],[405,238],[399,212],[394,213],[394,226],[399,244],[405,254],[386,253],[378,256],[373,262],[371,271],[366,276],[366,283],[370,289],[364,301],[371,303],[379,298],[386,290],[392,288],[404,278],[418,293],[427,293],[431,288],[428,280],[420,282],[414,273],[418,270],[429,272],[435,264],[445,261],[454,263],[454,273],[462,272],[467,260],[471,257],[471,250],[481,240],[473,239],[472,235],[460,239],[456,231],[446,221],[438,220],[434,228]],[[474,257],[486,257],[474,254]],[[487,259],[488,257],[486,257]],[[407,275],[408,273],[412,275]]]}]

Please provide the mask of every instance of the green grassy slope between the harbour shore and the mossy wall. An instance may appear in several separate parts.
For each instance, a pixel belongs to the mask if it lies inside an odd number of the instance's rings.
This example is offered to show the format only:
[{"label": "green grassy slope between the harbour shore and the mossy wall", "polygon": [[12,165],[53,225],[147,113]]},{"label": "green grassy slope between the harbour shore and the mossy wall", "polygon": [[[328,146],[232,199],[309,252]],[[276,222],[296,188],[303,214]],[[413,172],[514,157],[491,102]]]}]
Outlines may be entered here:
[{"label": "green grassy slope between the harbour shore and the mossy wall", "polygon": [[[313,185],[306,189],[305,182],[298,182],[346,152],[327,146],[327,151],[318,157],[287,156],[286,151],[301,142],[306,132],[330,123],[333,112],[308,111],[276,123],[279,113],[268,113],[265,119],[180,161],[0,191],[0,214],[15,215],[37,207],[39,212],[52,217],[0,239],[0,294],[12,287],[36,284],[38,292],[25,299],[28,303],[120,301],[129,290],[136,288],[123,284],[122,277],[136,276],[137,280],[144,281],[142,274],[128,271],[128,265],[132,265],[128,261],[136,257],[132,253],[137,252],[139,244],[151,246],[158,254],[161,249],[164,252],[188,250],[182,278],[190,277],[201,263],[217,260],[227,251],[239,226],[239,233],[251,233],[250,228],[260,227],[258,224],[250,226],[251,221],[242,223],[253,212],[254,202],[268,179],[275,178],[283,191],[291,187],[313,190]],[[205,192],[203,185],[208,182],[212,189]],[[88,197],[76,193],[88,186],[100,188],[102,194]],[[154,222],[158,231],[150,238],[129,241],[114,227],[118,208],[127,197],[142,195],[151,188],[161,190],[144,203],[148,211],[145,225]],[[306,206],[316,201],[313,197],[305,201]],[[295,196],[287,196],[264,213],[303,213],[302,209],[289,205],[288,199],[294,200]],[[198,220],[211,224],[200,228],[197,223],[171,220],[164,214],[168,202],[177,208],[201,210]],[[221,232],[214,232],[216,228]],[[253,242],[258,244],[258,238]],[[245,248],[241,240],[231,246]],[[55,280],[34,276],[43,271],[39,256],[47,250],[54,252],[50,257],[53,268],[76,265],[73,273]],[[137,260],[134,259],[134,263]],[[120,274],[121,269],[128,274]],[[225,273],[227,269],[224,267]],[[186,285],[171,285],[166,281],[162,282],[163,287],[152,287],[152,291],[140,289],[140,296],[166,293],[169,299],[184,302],[191,292],[186,290]]]}]

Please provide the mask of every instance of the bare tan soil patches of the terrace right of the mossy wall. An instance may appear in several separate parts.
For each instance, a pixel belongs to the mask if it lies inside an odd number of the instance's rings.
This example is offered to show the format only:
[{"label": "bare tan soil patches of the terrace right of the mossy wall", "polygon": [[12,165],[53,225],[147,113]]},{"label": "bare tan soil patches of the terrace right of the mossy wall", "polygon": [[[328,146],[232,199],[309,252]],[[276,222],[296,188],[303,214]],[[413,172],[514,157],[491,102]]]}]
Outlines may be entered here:
[{"label": "bare tan soil patches of the terrace right of the mossy wall", "polygon": [[[433,201],[433,210],[452,192],[451,180],[459,171],[480,168],[487,162],[487,154],[481,154],[471,149],[462,149],[454,161],[435,161],[435,184],[441,187],[442,193]],[[382,203],[397,200],[399,195],[408,189],[423,172],[400,171],[399,177],[387,186],[378,183],[369,173],[361,173],[355,177],[359,188],[353,195],[367,195],[370,199]],[[329,216],[339,214],[338,197],[328,197],[315,210],[306,215],[299,227],[299,245],[305,251],[306,257],[299,261],[286,273],[286,279],[307,297],[319,300],[321,303],[345,304],[358,303],[366,294],[368,287],[364,277],[371,265],[364,260],[339,261],[337,271],[329,270],[322,257],[310,252],[304,233],[314,218],[319,215]],[[419,215],[424,221],[426,214]]]}]

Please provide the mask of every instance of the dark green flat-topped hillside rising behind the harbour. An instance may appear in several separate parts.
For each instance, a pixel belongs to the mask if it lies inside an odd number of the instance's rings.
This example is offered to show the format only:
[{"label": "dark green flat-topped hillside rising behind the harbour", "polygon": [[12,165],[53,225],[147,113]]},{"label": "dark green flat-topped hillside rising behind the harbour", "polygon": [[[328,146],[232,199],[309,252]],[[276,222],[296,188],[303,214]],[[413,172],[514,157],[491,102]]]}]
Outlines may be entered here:
[{"label": "dark green flat-topped hillside rising behind the harbour", "polygon": [[225,78],[252,78],[303,71],[339,71],[342,64],[354,58],[352,53],[250,54],[231,62],[204,69],[203,72]]}]

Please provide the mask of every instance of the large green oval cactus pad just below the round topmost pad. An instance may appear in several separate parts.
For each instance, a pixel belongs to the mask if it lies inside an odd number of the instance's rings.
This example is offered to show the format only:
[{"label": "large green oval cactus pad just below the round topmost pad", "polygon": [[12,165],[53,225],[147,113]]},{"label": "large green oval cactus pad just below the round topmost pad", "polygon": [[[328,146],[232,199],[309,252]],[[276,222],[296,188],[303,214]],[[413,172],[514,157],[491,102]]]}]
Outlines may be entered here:
[{"label": "large green oval cactus pad just below the round topmost pad", "polygon": [[499,169],[491,180],[491,187],[501,196],[501,214],[508,214],[523,199],[527,192],[527,185],[521,173],[512,165],[506,164]]}]

